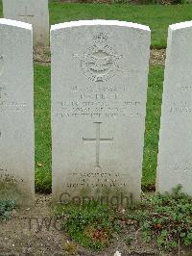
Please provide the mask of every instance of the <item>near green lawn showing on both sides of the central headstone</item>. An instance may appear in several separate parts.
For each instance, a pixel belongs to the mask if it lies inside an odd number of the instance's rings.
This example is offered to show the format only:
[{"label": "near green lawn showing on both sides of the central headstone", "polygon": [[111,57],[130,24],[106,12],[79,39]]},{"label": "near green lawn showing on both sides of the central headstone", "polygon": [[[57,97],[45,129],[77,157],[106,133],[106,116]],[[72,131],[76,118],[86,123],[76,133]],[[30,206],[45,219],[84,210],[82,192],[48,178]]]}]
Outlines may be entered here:
[{"label": "near green lawn showing on both sides of the central headstone", "polygon": [[[149,74],[142,184],[156,180],[156,154],[163,67],[151,66]],[[50,66],[35,65],[36,191],[51,191]]]}]

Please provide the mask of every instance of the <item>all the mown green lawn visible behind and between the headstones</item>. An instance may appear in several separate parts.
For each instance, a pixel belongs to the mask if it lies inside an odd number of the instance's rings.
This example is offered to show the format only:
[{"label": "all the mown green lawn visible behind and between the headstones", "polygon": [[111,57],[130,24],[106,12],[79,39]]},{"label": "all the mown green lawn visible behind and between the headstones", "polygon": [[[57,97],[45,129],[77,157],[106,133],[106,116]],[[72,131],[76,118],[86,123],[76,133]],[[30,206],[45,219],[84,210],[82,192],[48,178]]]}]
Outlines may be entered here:
[{"label": "all the mown green lawn visible behind and between the headstones", "polygon": [[[0,15],[2,3],[0,1]],[[50,2],[51,24],[78,19],[119,19],[149,25],[152,45],[166,46],[171,23],[192,19],[192,5],[129,6],[96,4],[62,4]],[[155,184],[156,154],[160,118],[163,67],[151,66],[149,74],[146,133],[143,163],[144,186]],[[35,65],[36,115],[36,190],[51,191],[50,66]]]}]

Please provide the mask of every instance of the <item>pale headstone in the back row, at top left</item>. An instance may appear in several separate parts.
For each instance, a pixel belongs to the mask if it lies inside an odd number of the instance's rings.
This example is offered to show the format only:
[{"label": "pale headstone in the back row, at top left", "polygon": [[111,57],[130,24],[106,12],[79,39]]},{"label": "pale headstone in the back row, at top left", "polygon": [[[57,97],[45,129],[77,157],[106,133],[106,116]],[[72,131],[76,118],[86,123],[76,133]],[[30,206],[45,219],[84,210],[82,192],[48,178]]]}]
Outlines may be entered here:
[{"label": "pale headstone in the back row, at top left", "polygon": [[33,25],[34,45],[49,45],[48,0],[3,0],[5,18]]}]

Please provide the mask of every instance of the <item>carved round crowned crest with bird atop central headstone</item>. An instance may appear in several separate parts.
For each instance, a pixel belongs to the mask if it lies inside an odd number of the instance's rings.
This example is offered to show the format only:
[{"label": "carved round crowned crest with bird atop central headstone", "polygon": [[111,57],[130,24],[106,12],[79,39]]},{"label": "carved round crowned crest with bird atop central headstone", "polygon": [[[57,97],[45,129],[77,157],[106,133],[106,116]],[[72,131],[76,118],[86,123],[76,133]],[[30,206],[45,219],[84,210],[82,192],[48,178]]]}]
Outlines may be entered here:
[{"label": "carved round crowned crest with bird atop central headstone", "polygon": [[[76,55],[77,56],[77,55]],[[100,33],[93,38],[93,45],[81,59],[84,75],[93,82],[105,82],[119,70],[122,56],[108,46],[108,37]]]}]

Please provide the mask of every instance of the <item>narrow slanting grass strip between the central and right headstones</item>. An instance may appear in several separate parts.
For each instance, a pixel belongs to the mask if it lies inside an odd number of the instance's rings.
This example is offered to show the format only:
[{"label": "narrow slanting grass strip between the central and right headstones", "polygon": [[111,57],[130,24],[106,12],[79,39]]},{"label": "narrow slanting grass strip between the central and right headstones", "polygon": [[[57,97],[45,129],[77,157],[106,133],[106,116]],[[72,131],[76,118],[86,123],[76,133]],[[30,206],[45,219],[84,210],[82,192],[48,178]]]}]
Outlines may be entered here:
[{"label": "narrow slanting grass strip between the central and right headstones", "polygon": [[156,157],[160,126],[163,72],[163,66],[156,65],[150,67],[142,179],[142,185],[148,188],[155,184],[156,181]]}]

